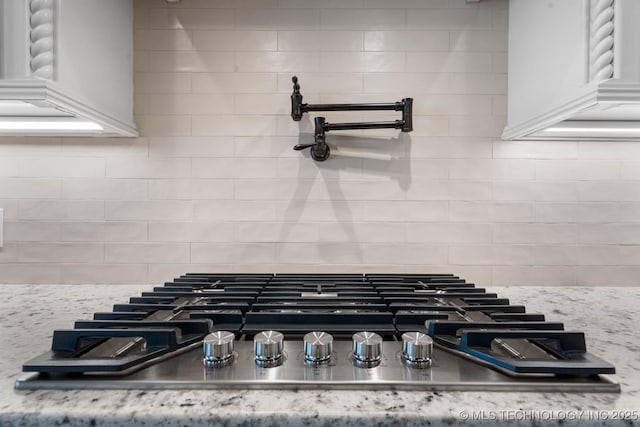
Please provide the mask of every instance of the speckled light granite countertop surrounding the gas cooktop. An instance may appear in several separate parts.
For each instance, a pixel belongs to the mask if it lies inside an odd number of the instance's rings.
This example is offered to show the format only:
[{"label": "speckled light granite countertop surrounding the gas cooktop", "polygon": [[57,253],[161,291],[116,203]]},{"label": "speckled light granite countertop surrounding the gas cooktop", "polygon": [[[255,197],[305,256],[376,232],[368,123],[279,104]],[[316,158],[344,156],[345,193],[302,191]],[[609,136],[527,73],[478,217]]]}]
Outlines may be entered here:
[{"label": "speckled light granite countertop surrounding the gas cooktop", "polygon": [[[394,391],[15,391],[21,365],[55,328],[108,311],[151,286],[1,285],[0,426],[640,425],[640,288],[490,288],[587,333],[616,365],[620,394]],[[26,307],[26,308],[25,308]],[[467,412],[463,412],[467,411]],[[584,412],[583,412],[584,411]],[[625,414],[624,412],[627,413]],[[619,419],[625,416],[625,420]],[[468,421],[467,421],[468,422]]]}]

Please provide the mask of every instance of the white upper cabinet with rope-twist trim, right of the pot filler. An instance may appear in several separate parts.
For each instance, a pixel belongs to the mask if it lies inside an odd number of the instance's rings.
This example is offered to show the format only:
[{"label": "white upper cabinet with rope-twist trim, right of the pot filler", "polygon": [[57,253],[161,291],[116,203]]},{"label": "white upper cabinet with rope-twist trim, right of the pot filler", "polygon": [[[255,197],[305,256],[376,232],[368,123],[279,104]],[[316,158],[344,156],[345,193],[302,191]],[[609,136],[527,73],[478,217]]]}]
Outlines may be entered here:
[{"label": "white upper cabinet with rope-twist trim, right of the pot filler", "polygon": [[640,138],[638,22],[638,0],[510,0],[503,138]]}]

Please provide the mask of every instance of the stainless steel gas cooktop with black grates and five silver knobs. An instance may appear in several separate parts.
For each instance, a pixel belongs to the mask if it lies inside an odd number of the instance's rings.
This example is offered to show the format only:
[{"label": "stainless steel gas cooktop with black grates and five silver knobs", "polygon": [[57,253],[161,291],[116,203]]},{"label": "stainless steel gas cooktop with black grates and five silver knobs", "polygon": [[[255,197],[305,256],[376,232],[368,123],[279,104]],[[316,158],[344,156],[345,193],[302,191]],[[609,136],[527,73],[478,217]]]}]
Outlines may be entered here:
[{"label": "stainless steel gas cooktop with black grates and five silver knobs", "polygon": [[23,370],[18,389],[620,391],[582,332],[450,274],[186,274]]}]

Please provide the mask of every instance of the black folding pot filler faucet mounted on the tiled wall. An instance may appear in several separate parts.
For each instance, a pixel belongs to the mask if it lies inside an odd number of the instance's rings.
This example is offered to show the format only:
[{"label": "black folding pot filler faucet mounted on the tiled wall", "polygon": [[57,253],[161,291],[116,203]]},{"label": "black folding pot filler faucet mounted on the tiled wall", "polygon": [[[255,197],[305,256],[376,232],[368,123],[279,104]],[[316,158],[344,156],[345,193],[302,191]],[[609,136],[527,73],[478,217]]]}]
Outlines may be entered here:
[{"label": "black folding pot filler faucet mounted on the tiled wall", "polygon": [[297,144],[294,150],[311,149],[311,158],[323,162],[329,158],[331,150],[326,142],[326,133],[332,130],[351,129],[400,129],[402,132],[413,130],[413,98],[403,98],[399,102],[364,104],[303,104],[298,77],[293,76],[291,94],[291,118],[299,122],[302,115],[310,111],[402,111],[402,119],[385,122],[328,123],[324,117],[316,117],[313,144]]}]

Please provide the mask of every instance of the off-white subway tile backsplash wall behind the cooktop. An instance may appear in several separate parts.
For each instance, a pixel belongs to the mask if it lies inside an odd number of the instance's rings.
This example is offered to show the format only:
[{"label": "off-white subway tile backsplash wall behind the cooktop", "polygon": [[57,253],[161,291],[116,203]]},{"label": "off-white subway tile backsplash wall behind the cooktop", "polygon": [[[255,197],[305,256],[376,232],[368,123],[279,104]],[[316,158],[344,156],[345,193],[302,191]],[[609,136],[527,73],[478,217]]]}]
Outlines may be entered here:
[{"label": "off-white subway tile backsplash wall behind the cooktop", "polygon": [[[135,4],[141,137],[0,139],[0,282],[640,284],[640,143],[499,139],[506,0]],[[311,138],[289,117],[293,74],[308,102],[411,96],[415,130],[330,133],[339,150],[315,163],[291,149]]]}]

